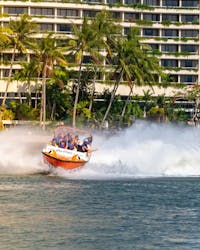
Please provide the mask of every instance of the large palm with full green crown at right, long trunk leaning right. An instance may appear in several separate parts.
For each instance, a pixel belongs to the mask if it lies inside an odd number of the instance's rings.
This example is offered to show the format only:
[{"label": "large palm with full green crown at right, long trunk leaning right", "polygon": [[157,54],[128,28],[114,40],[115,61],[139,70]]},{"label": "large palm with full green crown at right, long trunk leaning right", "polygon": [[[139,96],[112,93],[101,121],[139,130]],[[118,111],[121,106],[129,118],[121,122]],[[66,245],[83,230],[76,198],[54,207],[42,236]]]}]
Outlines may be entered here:
[{"label": "large palm with full green crown at right, long trunk leaning right", "polygon": [[119,37],[115,50],[116,53],[113,57],[113,61],[115,74],[118,74],[118,77],[115,81],[110,102],[104,114],[101,126],[104,125],[107,119],[116,91],[122,79],[126,79],[132,91],[133,83],[151,86],[155,83],[155,74],[160,72],[157,58],[148,53],[150,47],[140,42],[138,28],[131,28],[127,37]]}]

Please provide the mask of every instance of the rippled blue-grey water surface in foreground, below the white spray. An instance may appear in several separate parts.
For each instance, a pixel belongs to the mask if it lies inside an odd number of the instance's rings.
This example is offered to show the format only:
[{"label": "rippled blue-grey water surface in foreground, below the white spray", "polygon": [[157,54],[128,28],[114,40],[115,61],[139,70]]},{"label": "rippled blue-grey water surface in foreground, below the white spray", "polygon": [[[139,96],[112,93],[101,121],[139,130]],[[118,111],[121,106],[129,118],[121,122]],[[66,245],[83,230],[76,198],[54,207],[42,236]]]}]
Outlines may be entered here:
[{"label": "rippled blue-grey water surface in foreground, below the white spray", "polygon": [[0,249],[200,249],[200,179],[0,177]]}]

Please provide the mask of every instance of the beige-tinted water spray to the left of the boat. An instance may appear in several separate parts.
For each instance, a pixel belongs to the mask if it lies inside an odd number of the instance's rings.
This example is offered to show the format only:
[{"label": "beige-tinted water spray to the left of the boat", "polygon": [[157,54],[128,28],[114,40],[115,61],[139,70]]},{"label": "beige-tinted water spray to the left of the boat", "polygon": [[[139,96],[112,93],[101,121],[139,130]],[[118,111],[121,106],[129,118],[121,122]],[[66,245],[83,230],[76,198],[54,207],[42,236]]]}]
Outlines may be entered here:
[{"label": "beige-tinted water spray to the left of the boat", "polygon": [[0,175],[47,171],[41,150],[49,136],[39,129],[10,128],[0,133]]}]

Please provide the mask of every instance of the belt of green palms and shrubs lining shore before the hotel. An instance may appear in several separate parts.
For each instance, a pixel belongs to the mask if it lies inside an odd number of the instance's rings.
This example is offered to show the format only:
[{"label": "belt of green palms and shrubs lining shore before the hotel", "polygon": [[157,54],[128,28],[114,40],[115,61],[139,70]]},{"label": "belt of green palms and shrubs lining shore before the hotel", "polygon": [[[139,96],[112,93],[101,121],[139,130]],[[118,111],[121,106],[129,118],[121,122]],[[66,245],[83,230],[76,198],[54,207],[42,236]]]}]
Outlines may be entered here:
[{"label": "belt of green palms and shrubs lining shore before the hotel", "polygon": [[[167,76],[151,47],[142,42],[138,28],[130,28],[124,36],[121,26],[102,11],[95,19],[84,18],[81,27],[73,24],[72,29],[72,36],[47,32],[38,38],[38,27],[27,15],[1,28],[0,50],[9,48],[12,56],[0,121],[39,120],[45,129],[46,119],[93,127],[105,127],[107,122],[110,127],[129,126],[136,118],[188,119],[181,107],[173,108],[173,100],[165,95],[152,96],[158,76],[165,79],[164,87],[168,85]],[[23,58],[18,72],[13,70],[16,56]],[[105,76],[104,83],[113,89],[97,95],[95,83],[101,74]],[[9,101],[7,95],[13,80],[19,82],[19,98]],[[117,95],[121,84],[129,87],[126,98]],[[27,90],[25,96],[21,85]],[[142,85],[148,85],[152,91],[136,96],[134,87]],[[198,109],[196,93],[193,91],[187,98],[193,98]]]}]

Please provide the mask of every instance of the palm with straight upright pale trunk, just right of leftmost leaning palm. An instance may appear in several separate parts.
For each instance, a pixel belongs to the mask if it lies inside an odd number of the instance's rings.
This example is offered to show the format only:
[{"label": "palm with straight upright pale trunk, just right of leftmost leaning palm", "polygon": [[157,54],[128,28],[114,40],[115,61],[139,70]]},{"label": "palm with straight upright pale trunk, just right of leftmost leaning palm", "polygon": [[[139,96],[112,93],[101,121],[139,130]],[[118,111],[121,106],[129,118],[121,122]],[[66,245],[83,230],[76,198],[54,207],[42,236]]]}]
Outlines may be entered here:
[{"label": "palm with straight upright pale trunk, just right of leftmost leaning palm", "polygon": [[42,75],[42,99],[41,99],[41,112],[40,112],[40,125],[45,129],[46,122],[46,81],[47,78],[52,77],[54,68],[57,65],[66,66],[66,61],[61,48],[56,45],[56,38],[52,33],[41,38],[35,47],[36,56],[40,62]]}]

